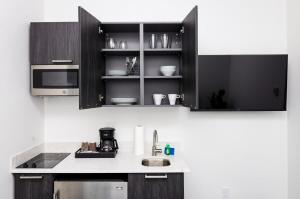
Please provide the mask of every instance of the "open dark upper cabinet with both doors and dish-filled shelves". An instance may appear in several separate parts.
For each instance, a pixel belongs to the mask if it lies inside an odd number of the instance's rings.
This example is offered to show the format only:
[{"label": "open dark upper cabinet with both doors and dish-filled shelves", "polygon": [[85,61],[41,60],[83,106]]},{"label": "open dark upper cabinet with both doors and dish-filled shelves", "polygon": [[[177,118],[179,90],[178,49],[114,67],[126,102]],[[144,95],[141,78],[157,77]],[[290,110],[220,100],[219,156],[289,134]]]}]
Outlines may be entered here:
[{"label": "open dark upper cabinet with both doors and dish-filled shelves", "polygon": [[[165,23],[105,23],[79,7],[80,94],[79,108],[117,106],[111,98],[136,98],[131,106],[154,106],[153,94],[178,94],[177,106],[198,107],[198,10],[183,21]],[[152,33],[180,35],[181,47],[149,47]],[[107,48],[107,37],[127,41],[126,49]],[[175,41],[173,41],[174,43]],[[137,57],[138,69],[130,76],[109,76],[125,67],[126,57]],[[175,65],[175,76],[159,74],[161,65]],[[164,99],[162,107],[169,107]]]}]

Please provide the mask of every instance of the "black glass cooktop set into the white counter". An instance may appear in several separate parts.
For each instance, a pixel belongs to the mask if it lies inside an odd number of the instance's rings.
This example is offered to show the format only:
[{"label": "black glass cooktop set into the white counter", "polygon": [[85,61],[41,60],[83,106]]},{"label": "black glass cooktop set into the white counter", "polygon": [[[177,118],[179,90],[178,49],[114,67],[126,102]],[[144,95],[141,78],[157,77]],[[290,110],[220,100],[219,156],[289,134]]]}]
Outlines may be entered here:
[{"label": "black glass cooktop set into the white counter", "polygon": [[40,153],[17,168],[53,168],[70,153]]}]

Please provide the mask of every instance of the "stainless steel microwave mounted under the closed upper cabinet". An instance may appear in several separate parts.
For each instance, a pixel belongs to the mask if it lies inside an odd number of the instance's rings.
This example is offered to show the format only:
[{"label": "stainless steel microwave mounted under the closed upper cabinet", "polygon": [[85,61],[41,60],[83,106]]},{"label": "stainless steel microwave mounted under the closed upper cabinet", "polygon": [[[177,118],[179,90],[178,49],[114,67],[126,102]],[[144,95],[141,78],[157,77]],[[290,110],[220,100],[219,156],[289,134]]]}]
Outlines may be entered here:
[{"label": "stainless steel microwave mounted under the closed upper cabinet", "polygon": [[34,96],[79,95],[78,65],[31,65]]}]

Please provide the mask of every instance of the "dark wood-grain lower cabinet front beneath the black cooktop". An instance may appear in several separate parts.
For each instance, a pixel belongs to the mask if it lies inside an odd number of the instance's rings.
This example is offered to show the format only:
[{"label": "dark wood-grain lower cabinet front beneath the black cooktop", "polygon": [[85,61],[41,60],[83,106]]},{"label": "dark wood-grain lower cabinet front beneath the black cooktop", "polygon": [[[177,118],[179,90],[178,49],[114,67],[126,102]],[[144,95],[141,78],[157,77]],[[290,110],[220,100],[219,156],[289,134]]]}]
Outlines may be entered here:
[{"label": "dark wood-grain lower cabinet front beneath the black cooktop", "polygon": [[52,199],[54,178],[50,174],[17,174],[15,177],[15,199]]}]

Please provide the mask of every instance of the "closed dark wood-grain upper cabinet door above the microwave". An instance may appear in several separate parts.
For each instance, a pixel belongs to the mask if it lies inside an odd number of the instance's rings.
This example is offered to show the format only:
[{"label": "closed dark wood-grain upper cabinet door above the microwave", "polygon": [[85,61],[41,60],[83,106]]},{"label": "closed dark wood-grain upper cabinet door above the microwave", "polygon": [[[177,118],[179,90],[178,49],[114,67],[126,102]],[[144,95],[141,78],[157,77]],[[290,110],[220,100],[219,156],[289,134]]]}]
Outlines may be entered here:
[{"label": "closed dark wood-grain upper cabinet door above the microwave", "polygon": [[[31,23],[30,63],[79,64],[77,22]],[[58,63],[57,63],[58,62]]]}]

